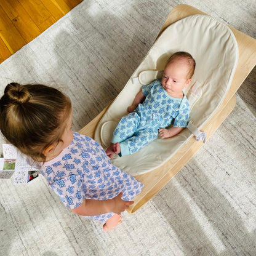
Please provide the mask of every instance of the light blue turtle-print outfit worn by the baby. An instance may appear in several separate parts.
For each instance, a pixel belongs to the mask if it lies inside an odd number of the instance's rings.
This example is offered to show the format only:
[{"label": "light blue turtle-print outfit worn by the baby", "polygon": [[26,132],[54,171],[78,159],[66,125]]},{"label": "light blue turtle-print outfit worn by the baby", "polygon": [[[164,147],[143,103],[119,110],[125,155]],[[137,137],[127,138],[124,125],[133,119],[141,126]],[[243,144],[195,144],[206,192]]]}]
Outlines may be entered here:
[{"label": "light blue turtle-print outfit worn by the baby", "polygon": [[142,87],[146,97],[133,113],[123,116],[114,130],[112,143],[119,142],[119,156],[132,154],[158,137],[158,130],[173,124],[186,127],[190,116],[190,105],[186,96],[173,98],[156,79]]}]

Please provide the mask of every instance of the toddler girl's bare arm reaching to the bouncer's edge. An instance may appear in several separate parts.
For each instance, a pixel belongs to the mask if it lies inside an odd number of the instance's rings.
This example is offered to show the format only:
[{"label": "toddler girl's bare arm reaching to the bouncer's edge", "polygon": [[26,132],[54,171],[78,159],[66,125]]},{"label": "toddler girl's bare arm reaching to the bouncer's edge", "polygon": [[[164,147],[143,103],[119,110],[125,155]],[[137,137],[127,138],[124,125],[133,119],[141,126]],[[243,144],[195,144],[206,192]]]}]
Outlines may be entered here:
[{"label": "toddler girl's bare arm reaching to the bouncer's edge", "polygon": [[124,201],[121,197],[122,192],[115,198],[108,200],[84,199],[80,206],[71,209],[71,211],[82,216],[94,216],[106,214],[108,212],[120,214],[134,203],[133,201]]}]

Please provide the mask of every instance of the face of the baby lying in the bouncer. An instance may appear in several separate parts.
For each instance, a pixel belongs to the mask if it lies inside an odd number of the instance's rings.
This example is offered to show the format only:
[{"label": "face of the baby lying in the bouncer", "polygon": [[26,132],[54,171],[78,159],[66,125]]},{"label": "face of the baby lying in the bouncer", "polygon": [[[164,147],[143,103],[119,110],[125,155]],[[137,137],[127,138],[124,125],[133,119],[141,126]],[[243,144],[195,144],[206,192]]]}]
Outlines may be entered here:
[{"label": "face of the baby lying in the bouncer", "polygon": [[185,60],[175,60],[169,63],[162,75],[162,87],[167,94],[175,98],[182,98],[182,90],[188,87],[191,79],[187,79],[189,67]]}]

